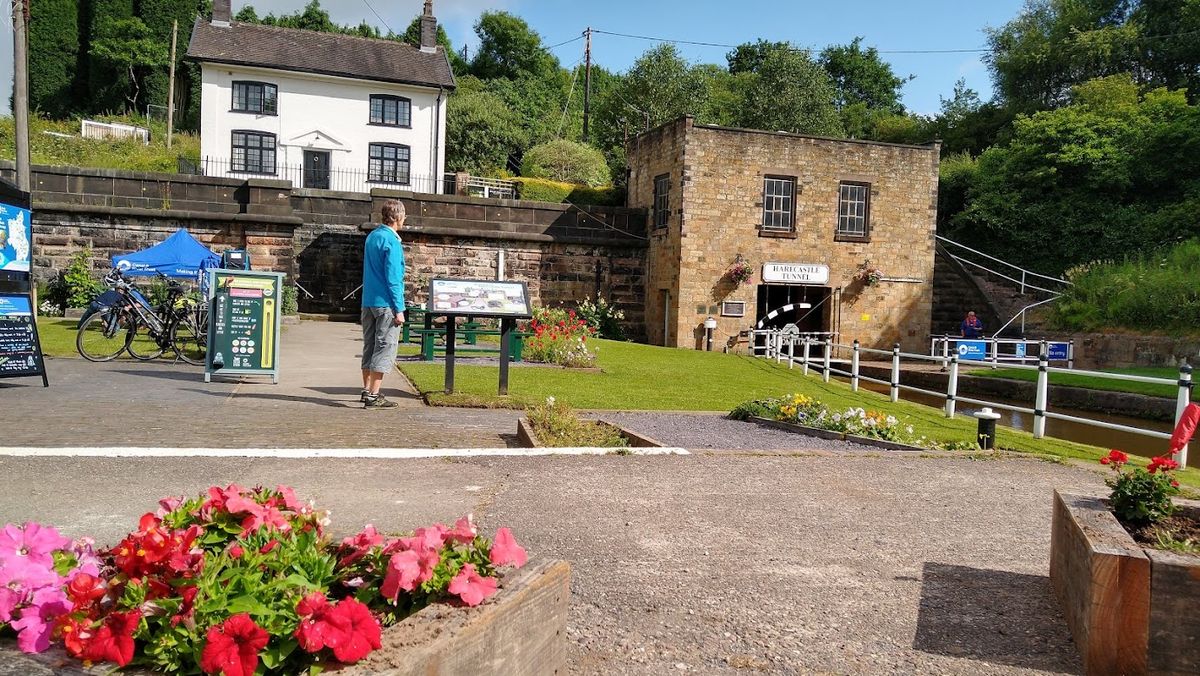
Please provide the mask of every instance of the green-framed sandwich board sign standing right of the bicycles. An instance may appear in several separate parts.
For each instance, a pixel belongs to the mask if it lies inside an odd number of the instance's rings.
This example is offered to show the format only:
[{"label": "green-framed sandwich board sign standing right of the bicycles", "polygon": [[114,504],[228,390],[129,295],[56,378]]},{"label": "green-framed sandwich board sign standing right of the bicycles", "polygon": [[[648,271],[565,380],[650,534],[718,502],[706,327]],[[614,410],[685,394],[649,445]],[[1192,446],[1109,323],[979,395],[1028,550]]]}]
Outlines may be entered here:
[{"label": "green-framed sandwich board sign standing right of the bicycles", "polygon": [[283,273],[209,270],[209,345],[204,382],[270,376],[280,382]]}]

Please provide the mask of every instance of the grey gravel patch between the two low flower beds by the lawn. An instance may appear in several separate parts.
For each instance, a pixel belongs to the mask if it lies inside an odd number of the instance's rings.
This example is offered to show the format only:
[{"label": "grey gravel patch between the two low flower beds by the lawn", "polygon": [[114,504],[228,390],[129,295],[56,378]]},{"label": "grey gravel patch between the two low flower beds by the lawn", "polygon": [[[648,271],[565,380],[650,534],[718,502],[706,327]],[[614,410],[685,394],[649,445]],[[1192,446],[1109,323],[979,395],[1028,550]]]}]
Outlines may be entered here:
[{"label": "grey gravel patch between the two low flower beds by the lawn", "polygon": [[605,413],[616,423],[666,445],[689,450],[829,450],[870,451],[880,449],[785,432],[764,425],[730,420],[724,415],[691,413]]}]

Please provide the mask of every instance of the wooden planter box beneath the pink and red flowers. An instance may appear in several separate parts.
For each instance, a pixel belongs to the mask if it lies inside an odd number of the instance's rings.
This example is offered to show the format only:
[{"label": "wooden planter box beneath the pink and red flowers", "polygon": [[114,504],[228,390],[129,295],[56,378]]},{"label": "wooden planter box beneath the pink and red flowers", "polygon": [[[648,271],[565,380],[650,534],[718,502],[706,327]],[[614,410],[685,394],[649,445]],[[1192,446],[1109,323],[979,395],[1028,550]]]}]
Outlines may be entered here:
[{"label": "wooden planter box beneath the pink and red flowers", "polygon": [[[565,674],[570,576],[571,567],[565,561],[530,563],[505,574],[499,592],[482,605],[427,606],[384,629],[383,647],[362,662],[328,672],[347,676]],[[85,669],[61,647],[24,654],[17,651],[16,641],[0,641],[0,675],[91,676],[112,670],[112,664]],[[127,669],[122,674],[151,672]]]}]

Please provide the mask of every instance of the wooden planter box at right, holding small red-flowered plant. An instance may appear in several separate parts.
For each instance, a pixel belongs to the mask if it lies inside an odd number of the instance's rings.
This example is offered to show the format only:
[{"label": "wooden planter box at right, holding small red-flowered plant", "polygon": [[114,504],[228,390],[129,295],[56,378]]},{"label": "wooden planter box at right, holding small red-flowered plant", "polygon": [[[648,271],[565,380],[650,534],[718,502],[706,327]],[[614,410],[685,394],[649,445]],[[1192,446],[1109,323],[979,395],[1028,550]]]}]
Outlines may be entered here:
[{"label": "wooden planter box at right, holding small red-flowered plant", "polygon": [[1087,674],[1200,674],[1200,557],[1142,549],[1104,498],[1055,491],[1050,582]]}]

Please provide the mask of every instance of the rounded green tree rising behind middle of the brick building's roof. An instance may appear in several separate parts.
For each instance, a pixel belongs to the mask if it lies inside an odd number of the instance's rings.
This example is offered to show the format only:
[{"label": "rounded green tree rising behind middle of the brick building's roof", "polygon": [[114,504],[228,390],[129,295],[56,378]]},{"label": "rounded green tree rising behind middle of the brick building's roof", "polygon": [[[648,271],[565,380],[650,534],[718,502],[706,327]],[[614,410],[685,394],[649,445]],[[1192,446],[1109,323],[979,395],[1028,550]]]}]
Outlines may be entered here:
[{"label": "rounded green tree rising behind middle of the brick building's roof", "polygon": [[751,128],[841,136],[829,76],[806,53],[775,49],[746,82],[739,125]]}]

